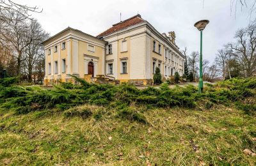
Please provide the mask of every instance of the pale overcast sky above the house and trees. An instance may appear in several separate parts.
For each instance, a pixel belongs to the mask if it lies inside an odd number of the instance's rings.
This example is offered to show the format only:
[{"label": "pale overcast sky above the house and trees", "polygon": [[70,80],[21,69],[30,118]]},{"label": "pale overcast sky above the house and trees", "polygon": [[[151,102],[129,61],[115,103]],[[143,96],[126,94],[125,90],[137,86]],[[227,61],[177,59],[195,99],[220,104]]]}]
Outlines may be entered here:
[{"label": "pale overcast sky above the house and trees", "polygon": [[[233,1],[233,0],[232,0]],[[16,1],[15,1],[16,2]],[[84,33],[97,34],[116,22],[137,13],[159,33],[175,31],[176,43],[180,49],[188,47],[190,54],[200,50],[200,33],[193,26],[201,19],[210,20],[203,33],[203,58],[213,61],[216,51],[234,40],[234,33],[250,22],[248,8],[241,10],[234,3],[230,10],[230,0],[17,0],[28,6],[38,6],[42,13],[33,13],[45,31],[52,35],[70,26]],[[252,0],[247,1],[250,6]],[[235,17],[236,13],[236,17]],[[252,18],[255,18],[253,13]]]}]

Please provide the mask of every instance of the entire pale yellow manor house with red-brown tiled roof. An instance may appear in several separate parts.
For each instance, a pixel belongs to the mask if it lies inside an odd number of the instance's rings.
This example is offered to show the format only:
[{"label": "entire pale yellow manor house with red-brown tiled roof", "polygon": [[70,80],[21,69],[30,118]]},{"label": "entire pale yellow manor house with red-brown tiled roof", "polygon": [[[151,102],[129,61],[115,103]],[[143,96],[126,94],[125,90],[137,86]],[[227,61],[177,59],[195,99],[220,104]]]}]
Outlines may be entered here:
[{"label": "entire pale yellow manor house with red-brown tiled roof", "polygon": [[113,24],[98,36],[67,27],[43,44],[45,85],[72,81],[70,75],[89,82],[103,77],[152,84],[156,67],[165,79],[184,73],[175,33],[159,33],[141,15]]}]

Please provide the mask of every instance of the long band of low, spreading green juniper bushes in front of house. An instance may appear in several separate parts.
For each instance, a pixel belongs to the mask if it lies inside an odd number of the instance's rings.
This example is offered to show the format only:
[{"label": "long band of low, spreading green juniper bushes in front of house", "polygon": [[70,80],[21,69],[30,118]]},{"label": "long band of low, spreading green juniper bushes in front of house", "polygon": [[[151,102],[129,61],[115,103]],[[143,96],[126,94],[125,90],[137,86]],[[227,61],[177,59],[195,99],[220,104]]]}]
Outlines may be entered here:
[{"label": "long band of low, spreading green juniper bushes in front of house", "polygon": [[[2,86],[0,89],[0,108],[12,109],[19,114],[57,108],[61,111],[67,110],[65,114],[71,114],[70,108],[90,103],[108,109],[122,110],[124,114],[127,113],[127,119],[130,118],[128,113],[131,113],[130,119],[136,119],[137,116],[140,117],[140,112],[127,110],[130,105],[195,108],[197,103],[205,103],[205,108],[211,109],[214,104],[230,105],[236,102],[237,108],[244,107],[245,111],[253,110],[255,108],[253,105],[256,103],[252,102],[252,107],[250,107],[245,102],[247,98],[250,98],[250,101],[256,98],[255,78],[230,79],[214,85],[209,84],[205,86],[204,93],[197,93],[197,87],[192,85],[169,88],[167,83],[163,83],[159,88],[148,87],[140,90],[129,83],[113,86],[111,84],[89,84],[77,77],[74,79],[77,79],[77,82],[80,81],[81,84],[65,83],[54,86],[52,89],[4,83],[5,87]],[[97,119],[97,116],[95,118]]]}]

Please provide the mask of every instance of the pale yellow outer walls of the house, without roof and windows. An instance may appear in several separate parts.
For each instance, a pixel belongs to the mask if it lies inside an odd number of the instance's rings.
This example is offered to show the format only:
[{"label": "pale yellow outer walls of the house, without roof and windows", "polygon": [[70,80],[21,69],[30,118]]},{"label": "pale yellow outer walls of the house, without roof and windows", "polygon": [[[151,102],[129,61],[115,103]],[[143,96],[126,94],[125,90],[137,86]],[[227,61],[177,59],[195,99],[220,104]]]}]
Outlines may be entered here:
[{"label": "pale yellow outer walls of the house, without roof and windows", "polygon": [[[169,69],[171,67],[174,69],[177,66],[177,70],[181,71],[183,66],[177,65],[177,62],[175,66],[172,61],[166,60],[164,51],[165,48],[172,50],[176,56],[181,57],[179,48],[170,45],[166,41],[167,38],[152,33],[152,30],[147,28],[140,27],[133,31],[113,34],[113,36],[104,38],[104,40],[70,27],[64,29],[49,40],[44,41],[44,85],[74,82],[70,75],[76,75],[88,82],[95,81],[97,76],[101,77],[103,75],[108,79],[115,77],[115,80],[119,80],[120,83],[152,84],[153,63],[156,63],[156,67],[159,64],[161,65],[161,74],[165,79],[170,77]],[[65,42],[65,49],[61,47],[63,42]],[[123,42],[126,44],[124,45]],[[154,50],[154,42],[156,42],[156,50]],[[106,53],[108,44],[112,45],[111,54]],[[160,53],[159,45],[161,46]],[[55,52],[54,48],[56,46],[58,50]],[[123,47],[125,47],[125,50],[122,49]],[[48,54],[49,49],[51,49],[51,54]],[[66,63],[65,71],[63,71],[63,59]],[[54,67],[55,61],[58,61],[58,72]],[[122,72],[122,62],[127,63],[126,73]],[[49,72],[49,63],[51,63],[51,72]],[[113,73],[108,73],[109,63],[113,65]],[[93,70],[91,68],[92,64]],[[168,75],[164,73],[166,72],[164,66],[168,68]]]}]

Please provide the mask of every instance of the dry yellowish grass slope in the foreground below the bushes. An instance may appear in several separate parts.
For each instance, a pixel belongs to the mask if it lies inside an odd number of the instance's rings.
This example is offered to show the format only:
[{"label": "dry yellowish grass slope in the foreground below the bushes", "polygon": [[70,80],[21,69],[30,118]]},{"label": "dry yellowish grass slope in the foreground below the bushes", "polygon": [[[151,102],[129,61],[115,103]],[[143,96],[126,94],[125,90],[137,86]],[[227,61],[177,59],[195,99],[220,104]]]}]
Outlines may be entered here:
[{"label": "dry yellowish grass slope in the foreground below the bushes", "polygon": [[232,107],[145,110],[149,124],[116,118],[116,110],[104,107],[77,109],[92,116],[1,111],[0,165],[256,164],[243,154],[255,151],[256,119]]}]

